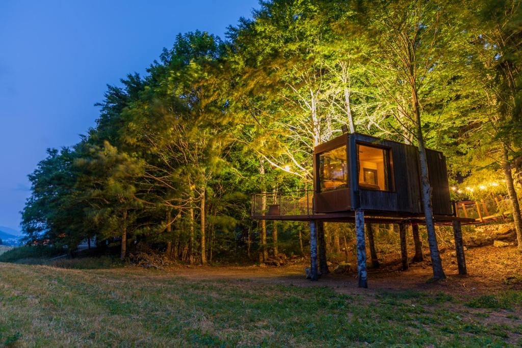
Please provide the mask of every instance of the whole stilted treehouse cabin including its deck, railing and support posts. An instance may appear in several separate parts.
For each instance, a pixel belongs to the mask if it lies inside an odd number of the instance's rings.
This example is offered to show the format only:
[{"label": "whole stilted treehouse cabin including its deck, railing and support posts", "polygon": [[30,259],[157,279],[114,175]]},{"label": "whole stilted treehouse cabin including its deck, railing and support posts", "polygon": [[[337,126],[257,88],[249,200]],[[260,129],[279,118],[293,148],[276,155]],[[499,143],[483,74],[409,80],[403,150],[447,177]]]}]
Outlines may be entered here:
[{"label": "whole stilted treehouse cabin including its deck, railing and support posts", "polygon": [[[318,145],[313,157],[313,191],[255,194],[252,218],[310,221],[312,279],[317,278],[317,274],[314,276],[317,270],[317,265],[314,266],[317,256],[315,242],[317,234],[321,239],[324,233],[322,222],[354,222],[357,230],[359,284],[363,287],[366,286],[365,222],[397,223],[401,227],[401,244],[404,242],[403,268],[407,268],[405,225],[411,224],[418,231],[418,225],[425,223],[418,148],[352,133]],[[471,222],[472,219],[456,215],[449,195],[446,159],[442,152],[426,150],[426,157],[432,187],[434,223],[453,223],[459,272],[465,273],[460,223]],[[418,237],[417,243],[420,243]],[[364,255],[359,255],[362,253]]]}]

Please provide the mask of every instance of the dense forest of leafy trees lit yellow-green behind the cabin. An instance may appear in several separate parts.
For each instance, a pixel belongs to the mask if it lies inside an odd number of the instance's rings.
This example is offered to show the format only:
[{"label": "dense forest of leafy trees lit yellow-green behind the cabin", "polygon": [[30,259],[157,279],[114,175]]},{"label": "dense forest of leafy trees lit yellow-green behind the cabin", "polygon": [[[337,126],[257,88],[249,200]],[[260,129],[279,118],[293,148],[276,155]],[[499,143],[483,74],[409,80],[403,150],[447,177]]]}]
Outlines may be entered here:
[{"label": "dense forest of leafy trees lit yellow-green behind the cabin", "polygon": [[251,195],[311,189],[313,148],[346,126],[442,151],[453,199],[509,197],[522,251],[521,45],[519,0],[262,0],[107,87],[96,126],[29,175],[25,241],[302,255],[307,225],[252,220]]}]

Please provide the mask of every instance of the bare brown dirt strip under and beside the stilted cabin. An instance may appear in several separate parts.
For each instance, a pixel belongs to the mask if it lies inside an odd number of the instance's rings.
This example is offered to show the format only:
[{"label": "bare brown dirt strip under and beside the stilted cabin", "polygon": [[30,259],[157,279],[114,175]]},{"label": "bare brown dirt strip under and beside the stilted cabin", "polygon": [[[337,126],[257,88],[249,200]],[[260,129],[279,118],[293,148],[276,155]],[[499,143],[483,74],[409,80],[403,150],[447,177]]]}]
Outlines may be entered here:
[{"label": "bare brown dirt strip under and beside the stilted cabin", "polygon": [[[413,250],[412,250],[413,251]],[[411,254],[410,254],[411,255]],[[496,248],[485,246],[466,251],[468,275],[458,275],[457,261],[450,250],[442,254],[447,279],[431,282],[432,269],[429,261],[410,263],[407,271],[400,270],[400,260],[394,255],[381,256],[381,267],[369,269],[370,290],[357,288],[355,273],[327,274],[319,281],[305,279],[304,261],[287,266],[175,266],[167,269],[169,274],[194,279],[233,280],[294,284],[300,286],[331,286],[343,293],[372,292],[373,290],[421,290],[428,293],[444,292],[466,298],[505,290],[522,290],[522,254],[515,247]],[[428,256],[429,259],[429,256]]]}]

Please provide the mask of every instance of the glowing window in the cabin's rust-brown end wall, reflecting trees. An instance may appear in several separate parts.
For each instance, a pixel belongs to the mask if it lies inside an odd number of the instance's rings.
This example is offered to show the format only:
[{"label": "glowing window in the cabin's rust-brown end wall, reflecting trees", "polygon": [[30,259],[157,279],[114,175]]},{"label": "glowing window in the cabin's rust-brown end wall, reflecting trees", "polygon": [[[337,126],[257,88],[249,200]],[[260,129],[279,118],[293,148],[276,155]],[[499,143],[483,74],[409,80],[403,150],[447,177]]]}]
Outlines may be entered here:
[{"label": "glowing window in the cabin's rust-brown end wall, reflecting trees", "polygon": [[319,155],[319,187],[322,192],[348,187],[346,145]]}]

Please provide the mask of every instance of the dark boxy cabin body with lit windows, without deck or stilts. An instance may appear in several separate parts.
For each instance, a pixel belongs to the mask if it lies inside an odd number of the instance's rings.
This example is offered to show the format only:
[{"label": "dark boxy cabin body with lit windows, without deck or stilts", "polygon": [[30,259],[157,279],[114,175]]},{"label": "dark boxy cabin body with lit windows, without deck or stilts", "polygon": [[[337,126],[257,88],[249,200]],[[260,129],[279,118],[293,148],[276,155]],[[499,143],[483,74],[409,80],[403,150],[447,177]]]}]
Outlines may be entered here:
[{"label": "dark boxy cabin body with lit windows, without deck or stilts", "polygon": [[[427,150],[433,211],[453,215],[446,159]],[[344,134],[314,149],[314,213],[423,213],[416,146],[363,134]]]}]

